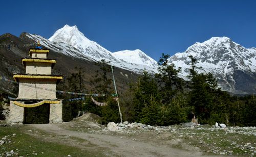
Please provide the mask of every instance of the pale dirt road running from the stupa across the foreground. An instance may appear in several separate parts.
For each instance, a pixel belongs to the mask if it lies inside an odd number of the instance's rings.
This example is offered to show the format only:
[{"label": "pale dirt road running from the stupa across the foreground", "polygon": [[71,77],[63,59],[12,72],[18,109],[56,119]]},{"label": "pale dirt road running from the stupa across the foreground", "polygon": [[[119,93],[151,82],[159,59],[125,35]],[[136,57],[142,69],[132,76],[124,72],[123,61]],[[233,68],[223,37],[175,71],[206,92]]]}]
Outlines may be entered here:
[{"label": "pale dirt road running from the stupa across the foreground", "polygon": [[[62,124],[31,124],[29,126],[53,135],[72,136],[89,141],[96,147],[110,150],[111,154],[106,152],[106,156],[204,156],[201,152],[196,150],[188,151],[172,148],[166,142],[134,140],[131,137],[111,134],[98,135],[81,133],[65,129],[61,127],[61,125]],[[81,147],[81,145],[79,145],[79,147]]]}]

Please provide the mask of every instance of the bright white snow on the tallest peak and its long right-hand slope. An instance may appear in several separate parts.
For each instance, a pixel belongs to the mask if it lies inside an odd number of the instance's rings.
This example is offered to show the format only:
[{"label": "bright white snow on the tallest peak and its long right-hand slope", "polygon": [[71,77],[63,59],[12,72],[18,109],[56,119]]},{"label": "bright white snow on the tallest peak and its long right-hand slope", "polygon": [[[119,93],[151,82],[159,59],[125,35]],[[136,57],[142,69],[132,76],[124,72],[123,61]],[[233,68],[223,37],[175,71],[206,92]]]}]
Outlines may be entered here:
[{"label": "bright white snow on the tallest peak and its long right-hand slope", "polygon": [[[130,62],[131,59],[120,60],[118,57],[115,57],[113,53],[111,53],[111,51],[100,46],[95,41],[91,41],[87,37],[85,37],[78,30],[76,25],[74,25],[73,27],[70,27],[69,25],[66,24],[63,28],[57,30],[54,33],[54,35],[49,38],[49,41],[54,44],[65,43],[65,44],[71,45],[76,49],[78,49],[81,56],[92,58],[95,61],[100,61],[101,59],[104,59],[106,61],[110,61],[111,64],[116,67],[131,70],[137,73],[141,73],[142,70],[144,69],[147,69],[148,71],[156,72],[156,67],[150,66],[150,64],[148,64],[149,62],[144,62],[144,63],[140,62],[138,64],[138,63]],[[141,57],[143,57],[141,59],[142,61],[143,60],[147,61],[148,59],[151,59],[150,57],[143,54],[141,55]],[[152,65],[154,64],[152,63]]]}]

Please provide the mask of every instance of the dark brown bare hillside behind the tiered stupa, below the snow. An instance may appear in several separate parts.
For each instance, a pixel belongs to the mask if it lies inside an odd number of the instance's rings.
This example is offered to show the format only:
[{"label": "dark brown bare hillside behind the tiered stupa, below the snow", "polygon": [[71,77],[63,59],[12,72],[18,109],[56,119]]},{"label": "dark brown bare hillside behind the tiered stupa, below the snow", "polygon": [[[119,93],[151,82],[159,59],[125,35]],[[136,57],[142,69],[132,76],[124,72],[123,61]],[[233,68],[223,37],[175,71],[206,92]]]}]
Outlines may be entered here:
[{"label": "dark brown bare hillside behind the tiered stupa, below the snow", "polygon": [[[42,41],[44,42],[44,41]],[[0,36],[0,44],[1,45],[16,45],[16,46],[2,46],[0,47],[0,57],[1,57],[1,76],[6,77],[9,80],[12,79],[13,73],[23,73],[25,72],[25,68],[22,65],[22,58],[28,56],[29,48],[34,47],[35,41],[27,37],[26,33],[22,33],[20,37],[16,37],[11,34],[4,34]],[[20,45],[20,46],[17,46]],[[24,45],[26,45],[24,47]],[[63,45],[62,48],[67,48]],[[47,48],[47,47],[46,47]],[[85,85],[87,91],[90,92],[94,89],[90,85],[90,79],[92,76],[95,75],[95,71],[99,69],[97,65],[95,65],[95,61],[86,60],[84,58],[75,58],[72,55],[62,54],[57,51],[56,48],[51,48],[49,53],[49,58],[56,59],[57,64],[54,66],[53,74],[62,74],[64,80],[71,74],[77,72],[77,68],[82,68],[85,72],[86,80]],[[131,80],[136,80],[138,74],[120,69],[118,67],[114,67],[114,74],[117,83],[117,89],[119,92],[124,91],[129,86],[127,85],[130,83]],[[126,77],[127,75],[127,77]],[[109,77],[112,77],[112,74],[109,73]],[[12,93],[13,91],[17,94],[17,89],[14,89],[13,83],[6,82],[3,79],[0,80],[1,91]],[[68,89],[61,89],[61,90],[68,90]]]}]

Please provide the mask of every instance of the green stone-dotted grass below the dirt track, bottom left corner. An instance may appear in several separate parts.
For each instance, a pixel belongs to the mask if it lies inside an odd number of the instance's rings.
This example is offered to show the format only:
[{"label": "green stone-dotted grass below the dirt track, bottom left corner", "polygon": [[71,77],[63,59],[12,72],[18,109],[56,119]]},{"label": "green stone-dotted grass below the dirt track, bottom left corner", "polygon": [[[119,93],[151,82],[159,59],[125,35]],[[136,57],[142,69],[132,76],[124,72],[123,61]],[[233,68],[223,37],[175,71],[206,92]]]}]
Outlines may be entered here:
[{"label": "green stone-dotted grass below the dirt track, bottom left corner", "polygon": [[[13,150],[13,156],[105,156],[100,151],[90,150],[90,144],[88,149],[81,149],[79,147],[67,145],[67,142],[53,142],[52,135],[46,135],[40,133],[44,137],[34,137],[28,134],[27,127],[24,126],[1,126],[0,138],[4,141],[0,144],[0,156],[6,156],[11,154]],[[50,137],[49,142],[45,137]],[[72,139],[76,142],[85,142],[81,139]]]}]

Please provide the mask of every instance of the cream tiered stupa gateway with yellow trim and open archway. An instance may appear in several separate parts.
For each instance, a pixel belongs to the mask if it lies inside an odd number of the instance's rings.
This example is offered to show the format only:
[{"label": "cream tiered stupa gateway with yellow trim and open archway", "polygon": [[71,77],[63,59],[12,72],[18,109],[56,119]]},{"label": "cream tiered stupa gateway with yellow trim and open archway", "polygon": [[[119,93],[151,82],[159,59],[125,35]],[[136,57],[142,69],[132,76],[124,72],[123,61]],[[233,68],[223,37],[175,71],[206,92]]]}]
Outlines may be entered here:
[{"label": "cream tiered stupa gateway with yellow trim and open archway", "polygon": [[48,54],[49,49],[43,49],[38,41],[36,48],[30,48],[29,57],[22,59],[26,73],[13,75],[19,90],[18,97],[10,101],[9,122],[26,123],[26,109],[39,106],[47,107],[49,123],[62,122],[62,100],[56,98],[56,84],[62,76],[52,75],[56,60],[48,59]]}]

